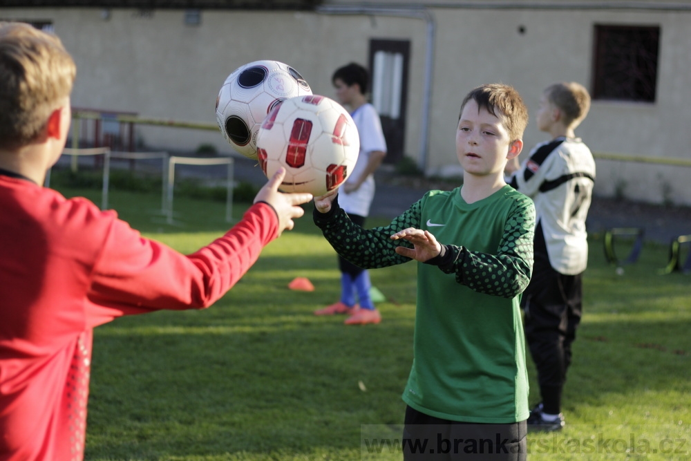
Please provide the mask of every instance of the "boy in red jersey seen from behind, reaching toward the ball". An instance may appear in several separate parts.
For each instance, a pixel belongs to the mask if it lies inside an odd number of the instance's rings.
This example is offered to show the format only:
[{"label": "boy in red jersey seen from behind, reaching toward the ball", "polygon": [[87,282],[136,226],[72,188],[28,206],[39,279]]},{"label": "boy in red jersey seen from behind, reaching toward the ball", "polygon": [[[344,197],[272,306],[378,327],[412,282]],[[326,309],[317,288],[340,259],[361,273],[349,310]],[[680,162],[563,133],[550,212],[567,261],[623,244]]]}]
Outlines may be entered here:
[{"label": "boy in red jersey seen from behind, reaching toward the ball", "polygon": [[0,22],[0,460],[82,460],[91,338],[128,314],[206,308],[303,215],[278,171],[227,234],[184,256],[114,211],[41,187],[76,68],[57,37]]}]

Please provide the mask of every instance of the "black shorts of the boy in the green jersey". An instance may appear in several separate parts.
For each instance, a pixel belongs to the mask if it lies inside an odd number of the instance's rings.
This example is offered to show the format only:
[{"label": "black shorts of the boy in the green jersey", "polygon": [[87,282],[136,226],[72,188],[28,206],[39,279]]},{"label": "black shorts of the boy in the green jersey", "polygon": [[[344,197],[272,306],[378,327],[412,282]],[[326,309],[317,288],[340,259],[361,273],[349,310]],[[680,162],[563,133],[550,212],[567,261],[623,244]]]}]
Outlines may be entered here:
[{"label": "black shorts of the boy in the green jersey", "polygon": [[525,461],[525,421],[482,424],[444,420],[406,408],[404,461]]}]

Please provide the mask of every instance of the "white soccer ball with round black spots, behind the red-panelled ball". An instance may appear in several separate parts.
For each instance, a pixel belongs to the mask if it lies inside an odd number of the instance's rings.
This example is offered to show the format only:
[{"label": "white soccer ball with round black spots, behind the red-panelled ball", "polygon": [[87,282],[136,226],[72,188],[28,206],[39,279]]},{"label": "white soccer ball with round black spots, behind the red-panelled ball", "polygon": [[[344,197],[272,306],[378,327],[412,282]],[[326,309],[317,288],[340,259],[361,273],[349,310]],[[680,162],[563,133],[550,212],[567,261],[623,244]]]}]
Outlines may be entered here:
[{"label": "white soccer ball with round black spots, behind the red-panelled ball", "polygon": [[267,113],[283,100],[311,95],[302,75],[287,64],[261,60],[234,70],[216,97],[216,122],[227,142],[256,159],[256,137]]}]

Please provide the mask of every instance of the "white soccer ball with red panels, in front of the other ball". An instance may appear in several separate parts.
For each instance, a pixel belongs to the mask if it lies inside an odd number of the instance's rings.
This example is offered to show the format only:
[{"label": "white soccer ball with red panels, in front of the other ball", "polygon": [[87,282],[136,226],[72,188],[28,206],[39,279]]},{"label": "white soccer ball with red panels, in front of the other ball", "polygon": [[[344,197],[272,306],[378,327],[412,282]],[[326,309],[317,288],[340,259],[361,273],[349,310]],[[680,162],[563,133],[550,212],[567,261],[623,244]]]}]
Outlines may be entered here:
[{"label": "white soccer ball with red panels, in front of the other ball", "polygon": [[360,150],[357,127],[343,106],[328,97],[291,97],[272,109],[257,136],[257,158],[270,178],[286,170],[284,192],[322,196],[352,172]]}]

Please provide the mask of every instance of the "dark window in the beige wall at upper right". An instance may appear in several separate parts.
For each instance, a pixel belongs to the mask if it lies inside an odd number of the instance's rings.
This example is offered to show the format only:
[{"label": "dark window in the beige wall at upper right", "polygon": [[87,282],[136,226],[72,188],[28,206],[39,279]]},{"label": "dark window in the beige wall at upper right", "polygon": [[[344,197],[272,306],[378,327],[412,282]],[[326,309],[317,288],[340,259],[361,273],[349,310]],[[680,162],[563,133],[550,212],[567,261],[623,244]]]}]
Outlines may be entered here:
[{"label": "dark window in the beige wall at upper right", "polygon": [[658,26],[596,25],[594,45],[594,99],[655,101]]}]

